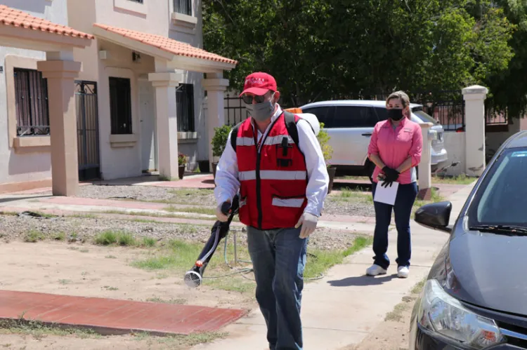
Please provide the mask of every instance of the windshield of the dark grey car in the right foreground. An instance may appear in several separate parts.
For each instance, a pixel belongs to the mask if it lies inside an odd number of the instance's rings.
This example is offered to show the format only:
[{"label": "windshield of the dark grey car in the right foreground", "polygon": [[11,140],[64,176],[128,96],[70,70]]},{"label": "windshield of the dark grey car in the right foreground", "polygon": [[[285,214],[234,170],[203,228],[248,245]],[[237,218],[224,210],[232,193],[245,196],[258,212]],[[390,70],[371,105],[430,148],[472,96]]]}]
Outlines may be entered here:
[{"label": "windshield of the dark grey car in the right foreground", "polygon": [[469,208],[469,227],[527,227],[527,147],[506,149],[489,169]]}]

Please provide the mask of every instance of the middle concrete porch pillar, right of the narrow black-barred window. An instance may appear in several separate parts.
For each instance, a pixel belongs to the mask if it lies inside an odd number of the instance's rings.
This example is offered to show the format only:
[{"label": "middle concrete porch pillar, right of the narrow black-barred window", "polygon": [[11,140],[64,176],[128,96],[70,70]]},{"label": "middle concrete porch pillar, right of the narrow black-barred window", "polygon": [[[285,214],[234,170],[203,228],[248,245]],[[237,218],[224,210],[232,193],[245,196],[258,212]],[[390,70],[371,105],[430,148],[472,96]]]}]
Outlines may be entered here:
[{"label": "middle concrete porch pillar, right of the narrow black-barred window", "polygon": [[176,72],[148,74],[155,87],[155,117],[157,126],[157,158],[160,176],[167,180],[178,178],[178,119],[176,86],[183,76]]}]

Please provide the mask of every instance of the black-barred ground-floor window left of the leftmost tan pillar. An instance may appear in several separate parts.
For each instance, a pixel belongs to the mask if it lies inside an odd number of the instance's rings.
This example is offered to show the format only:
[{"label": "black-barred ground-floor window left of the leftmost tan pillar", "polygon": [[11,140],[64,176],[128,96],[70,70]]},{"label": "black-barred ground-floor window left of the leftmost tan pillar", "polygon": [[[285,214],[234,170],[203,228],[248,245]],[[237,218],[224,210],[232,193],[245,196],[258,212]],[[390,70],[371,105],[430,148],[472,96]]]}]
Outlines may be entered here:
[{"label": "black-barred ground-floor window left of the leftmost tan pillar", "polygon": [[16,135],[48,135],[48,82],[36,69],[13,69],[15,76]]}]

